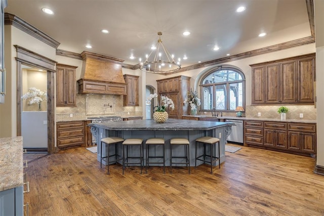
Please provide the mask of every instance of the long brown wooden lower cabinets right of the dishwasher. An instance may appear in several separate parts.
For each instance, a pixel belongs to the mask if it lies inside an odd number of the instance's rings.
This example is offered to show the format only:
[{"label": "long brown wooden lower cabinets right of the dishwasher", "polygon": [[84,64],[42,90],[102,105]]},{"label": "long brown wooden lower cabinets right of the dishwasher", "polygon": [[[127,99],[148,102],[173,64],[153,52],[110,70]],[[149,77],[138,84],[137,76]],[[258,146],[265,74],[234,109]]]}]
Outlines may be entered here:
[{"label": "long brown wooden lower cabinets right of the dishwasher", "polygon": [[316,124],[244,121],[247,146],[312,156],[316,154]]}]

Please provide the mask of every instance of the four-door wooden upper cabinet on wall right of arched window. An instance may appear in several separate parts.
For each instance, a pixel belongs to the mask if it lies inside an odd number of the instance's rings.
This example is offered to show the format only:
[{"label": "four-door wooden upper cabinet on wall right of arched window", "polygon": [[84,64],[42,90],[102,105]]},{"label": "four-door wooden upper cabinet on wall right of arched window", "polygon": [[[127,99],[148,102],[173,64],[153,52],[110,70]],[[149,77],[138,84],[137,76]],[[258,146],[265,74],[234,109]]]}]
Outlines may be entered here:
[{"label": "four-door wooden upper cabinet on wall right of arched window", "polygon": [[252,104],[314,104],[315,54],[250,65]]}]

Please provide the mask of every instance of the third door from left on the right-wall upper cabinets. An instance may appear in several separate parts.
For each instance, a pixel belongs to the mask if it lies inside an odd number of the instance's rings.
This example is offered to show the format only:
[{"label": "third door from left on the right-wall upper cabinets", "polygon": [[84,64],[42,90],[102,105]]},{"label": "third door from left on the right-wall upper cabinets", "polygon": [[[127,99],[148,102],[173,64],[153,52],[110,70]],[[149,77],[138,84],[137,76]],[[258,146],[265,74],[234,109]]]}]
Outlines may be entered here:
[{"label": "third door from left on the right-wall upper cabinets", "polygon": [[296,60],[281,63],[280,101],[294,103],[297,101],[297,71]]}]

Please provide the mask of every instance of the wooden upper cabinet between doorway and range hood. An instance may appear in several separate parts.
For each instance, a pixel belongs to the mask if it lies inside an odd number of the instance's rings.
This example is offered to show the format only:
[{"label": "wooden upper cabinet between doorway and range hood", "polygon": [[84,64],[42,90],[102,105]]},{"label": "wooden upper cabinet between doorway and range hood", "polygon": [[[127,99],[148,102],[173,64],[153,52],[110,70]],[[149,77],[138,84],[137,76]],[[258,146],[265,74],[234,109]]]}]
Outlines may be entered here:
[{"label": "wooden upper cabinet between doorway and range hood", "polygon": [[75,66],[56,64],[56,106],[76,107]]}]

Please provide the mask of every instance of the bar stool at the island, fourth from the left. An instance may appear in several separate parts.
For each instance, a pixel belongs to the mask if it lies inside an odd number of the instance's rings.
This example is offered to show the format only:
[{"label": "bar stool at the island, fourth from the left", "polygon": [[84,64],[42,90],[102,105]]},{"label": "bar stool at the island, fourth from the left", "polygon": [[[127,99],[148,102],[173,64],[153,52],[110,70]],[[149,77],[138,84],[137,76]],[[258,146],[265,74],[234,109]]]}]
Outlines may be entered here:
[{"label": "bar stool at the island, fourth from the left", "polygon": [[[172,174],[172,164],[186,164],[189,168],[189,174],[190,174],[190,152],[189,152],[189,140],[185,138],[172,138],[170,140],[170,168],[171,168],[171,174]],[[172,146],[174,145],[182,145],[184,146],[185,155],[184,156],[172,156]],[[172,162],[173,158],[177,159],[185,159],[185,162]]]}]

